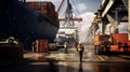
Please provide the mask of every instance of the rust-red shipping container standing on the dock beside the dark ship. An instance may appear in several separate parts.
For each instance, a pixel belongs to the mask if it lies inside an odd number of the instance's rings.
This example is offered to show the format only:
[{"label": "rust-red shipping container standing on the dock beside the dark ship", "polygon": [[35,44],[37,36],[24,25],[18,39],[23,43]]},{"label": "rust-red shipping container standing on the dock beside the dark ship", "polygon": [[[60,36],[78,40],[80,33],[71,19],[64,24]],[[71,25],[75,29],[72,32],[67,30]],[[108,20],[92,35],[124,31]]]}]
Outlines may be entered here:
[{"label": "rust-red shipping container standing on the dock beside the dark ship", "polygon": [[48,49],[49,49],[49,41],[48,40],[39,39],[36,41],[36,45],[37,45],[38,53],[48,53]]}]

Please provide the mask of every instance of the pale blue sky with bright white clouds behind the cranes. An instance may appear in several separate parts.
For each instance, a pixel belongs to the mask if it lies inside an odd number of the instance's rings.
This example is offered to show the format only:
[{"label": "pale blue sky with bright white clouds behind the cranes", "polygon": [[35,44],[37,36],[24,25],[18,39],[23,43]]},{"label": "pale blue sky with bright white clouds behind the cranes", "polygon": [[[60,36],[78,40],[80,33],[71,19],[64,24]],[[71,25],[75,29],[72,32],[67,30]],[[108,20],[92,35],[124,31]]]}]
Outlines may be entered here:
[{"label": "pale blue sky with bright white clouds behind the cranes", "polygon": [[[57,10],[62,0],[26,0],[26,1],[51,1],[55,5],[55,11]],[[66,2],[67,0],[65,0]],[[94,18],[94,13],[101,5],[102,0],[69,0],[73,5],[74,17],[80,16],[83,20],[80,23],[75,23],[80,27],[79,40],[84,41],[87,31],[91,26],[91,23]],[[63,4],[58,16],[63,17],[66,9],[66,3]]]}]

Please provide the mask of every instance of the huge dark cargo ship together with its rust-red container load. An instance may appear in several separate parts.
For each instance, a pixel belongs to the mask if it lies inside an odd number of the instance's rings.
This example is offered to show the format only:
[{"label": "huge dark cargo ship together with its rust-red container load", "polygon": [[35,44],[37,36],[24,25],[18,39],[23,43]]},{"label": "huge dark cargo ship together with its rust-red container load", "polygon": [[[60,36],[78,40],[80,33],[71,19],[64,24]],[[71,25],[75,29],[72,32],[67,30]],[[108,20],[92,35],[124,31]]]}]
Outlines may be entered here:
[{"label": "huge dark cargo ship together with its rust-red container load", "polygon": [[60,28],[58,17],[52,2],[26,0],[1,1],[0,38],[14,37],[25,49],[34,41],[46,39],[53,42]]}]

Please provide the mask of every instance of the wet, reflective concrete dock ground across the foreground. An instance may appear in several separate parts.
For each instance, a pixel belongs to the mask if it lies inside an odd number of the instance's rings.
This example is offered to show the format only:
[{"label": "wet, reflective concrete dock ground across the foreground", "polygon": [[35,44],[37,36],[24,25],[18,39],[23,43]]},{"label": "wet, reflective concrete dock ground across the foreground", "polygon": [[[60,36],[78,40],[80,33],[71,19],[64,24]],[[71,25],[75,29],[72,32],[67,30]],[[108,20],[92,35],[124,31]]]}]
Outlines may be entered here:
[{"label": "wet, reflective concrete dock ground across the foreground", "polygon": [[49,53],[25,53],[24,59],[1,62],[0,72],[130,72],[130,60],[117,56],[94,55],[92,46],[86,47],[83,61],[78,52],[70,47]]}]

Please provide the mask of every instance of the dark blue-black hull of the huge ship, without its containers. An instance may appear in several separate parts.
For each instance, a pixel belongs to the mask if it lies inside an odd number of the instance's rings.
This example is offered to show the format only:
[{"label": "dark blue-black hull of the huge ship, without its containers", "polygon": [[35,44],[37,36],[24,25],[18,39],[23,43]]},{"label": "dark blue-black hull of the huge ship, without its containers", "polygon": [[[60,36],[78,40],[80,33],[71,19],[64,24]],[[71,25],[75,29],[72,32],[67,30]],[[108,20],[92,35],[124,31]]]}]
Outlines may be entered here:
[{"label": "dark blue-black hull of the huge ship, without its containers", "polygon": [[37,39],[47,39],[53,42],[58,30],[58,23],[51,21],[17,0],[1,2],[0,8],[0,39],[14,37],[30,47]]}]

